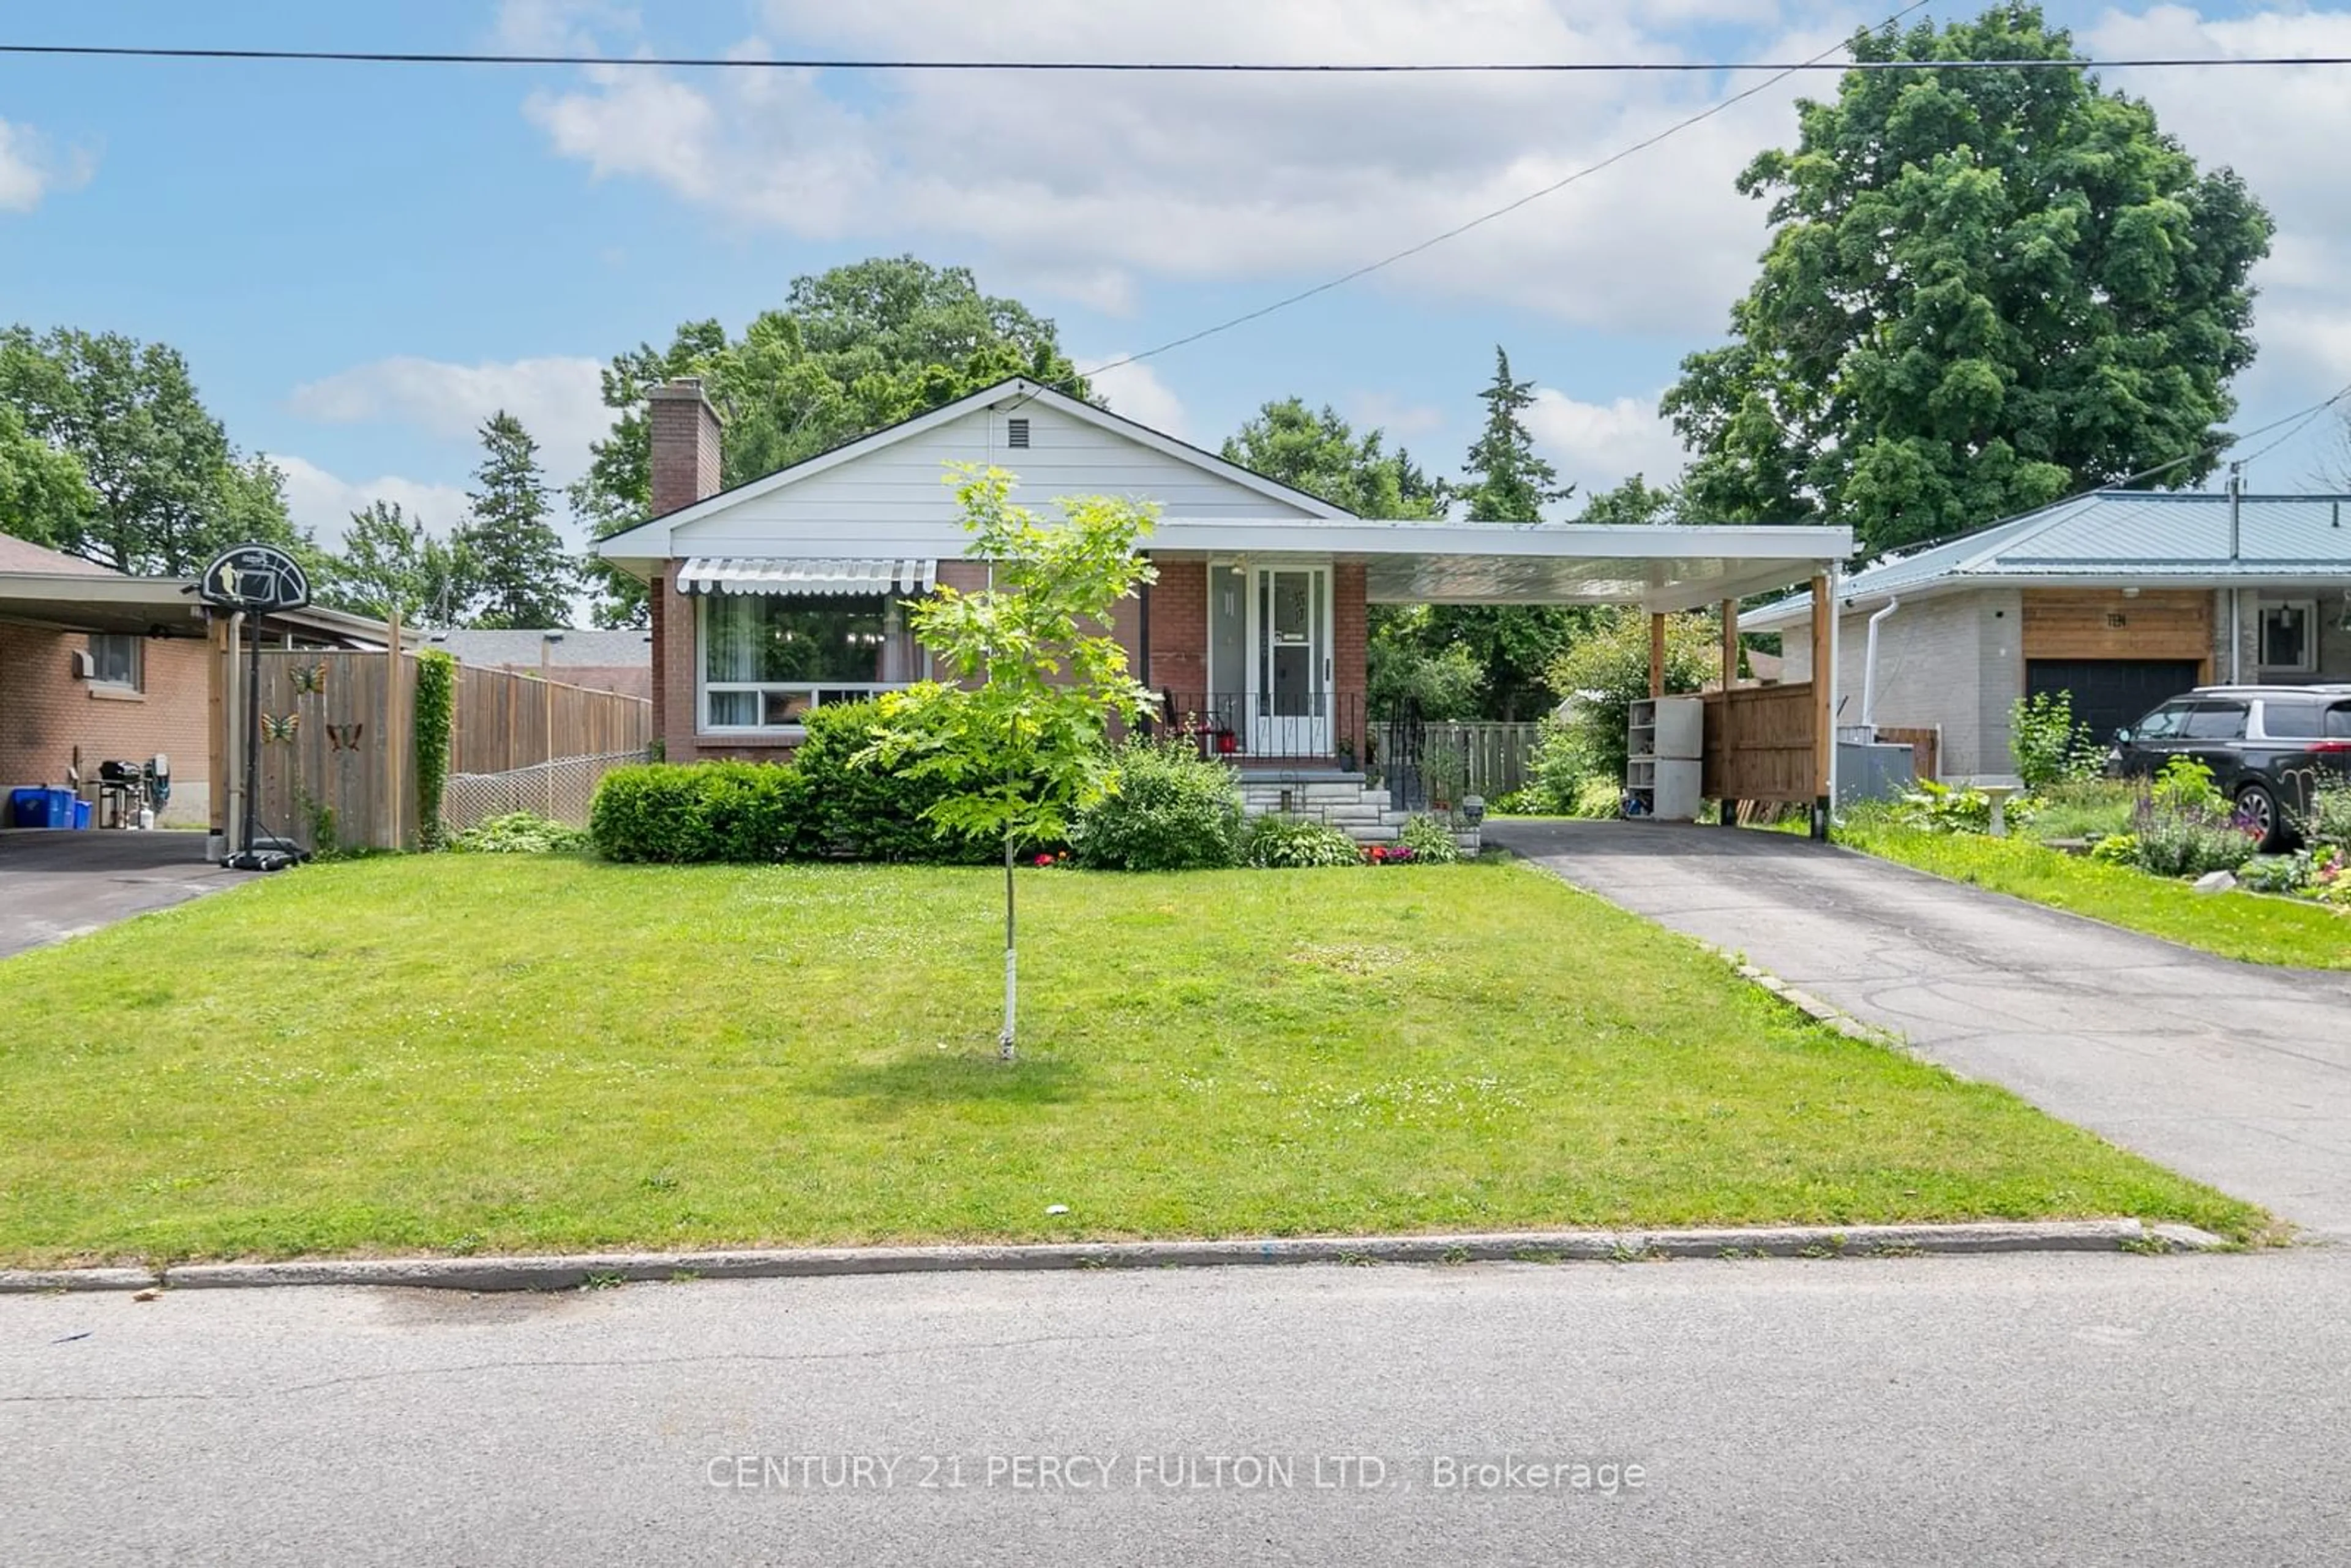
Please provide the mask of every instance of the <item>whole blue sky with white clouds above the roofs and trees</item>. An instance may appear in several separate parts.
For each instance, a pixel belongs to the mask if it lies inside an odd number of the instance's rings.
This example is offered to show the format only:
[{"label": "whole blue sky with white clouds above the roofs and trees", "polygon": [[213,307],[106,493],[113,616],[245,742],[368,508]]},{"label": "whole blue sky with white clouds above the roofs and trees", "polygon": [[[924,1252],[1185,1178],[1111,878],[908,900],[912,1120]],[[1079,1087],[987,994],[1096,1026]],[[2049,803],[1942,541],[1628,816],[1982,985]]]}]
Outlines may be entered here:
[{"label": "whole blue sky with white clouds above the roofs and trees", "polygon": [[[1773,0],[120,0],[0,7],[14,42],[609,54],[1556,59],[1810,54],[1867,7]],[[1888,7],[1890,9],[1890,7]],[[1972,7],[1970,7],[1972,9]],[[1956,14],[1956,9],[1951,12]],[[2092,52],[2351,52],[2351,12],[2092,7]],[[2280,219],[2241,428],[2351,381],[2346,75],[2130,78]],[[1813,89],[1827,89],[1817,78]],[[179,346],[247,449],[331,534],[390,496],[449,527],[470,425],[513,407],[557,480],[595,362],[686,317],[741,327],[790,277],[917,252],[1060,322],[1081,360],[1192,331],[1559,179],[1726,92],[1707,78],[715,78],[583,71],[0,61],[0,301],[35,327]],[[1535,433],[1603,487],[1674,468],[1655,395],[1719,339],[1763,228],[1730,174],[1791,136],[1775,89],[1570,193],[1105,383],[1215,444],[1300,393],[1432,468],[1472,435],[1495,343]],[[2332,430],[2264,458],[2316,473]]]}]

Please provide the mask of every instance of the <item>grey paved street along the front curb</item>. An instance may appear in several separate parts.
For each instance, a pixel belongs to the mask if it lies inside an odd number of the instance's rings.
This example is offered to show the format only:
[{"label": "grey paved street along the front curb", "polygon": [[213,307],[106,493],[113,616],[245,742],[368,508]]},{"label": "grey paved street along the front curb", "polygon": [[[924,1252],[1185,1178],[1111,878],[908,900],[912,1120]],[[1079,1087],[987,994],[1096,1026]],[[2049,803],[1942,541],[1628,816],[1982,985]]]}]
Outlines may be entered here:
[{"label": "grey paved street along the front curb", "polygon": [[0,1561],[2339,1563],[2346,1284],[2304,1248],[0,1298]]}]

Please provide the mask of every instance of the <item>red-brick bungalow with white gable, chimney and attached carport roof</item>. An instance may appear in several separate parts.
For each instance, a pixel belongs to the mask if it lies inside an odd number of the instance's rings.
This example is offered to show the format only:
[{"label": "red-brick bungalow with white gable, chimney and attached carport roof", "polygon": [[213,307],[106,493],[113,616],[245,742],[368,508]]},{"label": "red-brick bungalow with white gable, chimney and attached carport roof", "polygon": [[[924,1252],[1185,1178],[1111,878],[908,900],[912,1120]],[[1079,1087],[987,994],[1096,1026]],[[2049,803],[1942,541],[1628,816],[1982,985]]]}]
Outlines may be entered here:
[{"label": "red-brick bungalow with white gable, chimney and attached carport roof", "polygon": [[1013,378],[719,491],[719,416],[694,381],[649,407],[654,520],[600,550],[651,585],[654,726],[675,762],[785,757],[809,708],[922,679],[903,602],[980,588],[947,463],[1018,498],[1154,501],[1157,583],[1114,635],[1237,764],[1345,773],[1371,738],[1371,604],[1695,609],[1827,571],[1820,527],[1469,524],[1354,517],[1171,435]]}]

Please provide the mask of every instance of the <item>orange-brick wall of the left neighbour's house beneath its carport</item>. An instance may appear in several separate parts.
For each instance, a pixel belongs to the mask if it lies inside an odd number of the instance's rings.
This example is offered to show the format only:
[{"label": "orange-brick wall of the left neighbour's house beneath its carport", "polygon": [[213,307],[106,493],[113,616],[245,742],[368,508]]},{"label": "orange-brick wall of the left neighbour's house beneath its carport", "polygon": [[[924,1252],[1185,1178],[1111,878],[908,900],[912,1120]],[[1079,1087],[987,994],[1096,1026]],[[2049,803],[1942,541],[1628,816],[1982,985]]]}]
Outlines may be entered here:
[{"label": "orange-brick wall of the left neighbour's house beneath its carport", "polygon": [[[0,788],[63,785],[82,755],[82,799],[96,802],[108,757],[172,759],[167,823],[202,825],[209,811],[209,670],[200,637],[148,637],[141,691],[118,693],[75,677],[80,632],[0,625]],[[0,797],[5,799],[5,797]]]}]

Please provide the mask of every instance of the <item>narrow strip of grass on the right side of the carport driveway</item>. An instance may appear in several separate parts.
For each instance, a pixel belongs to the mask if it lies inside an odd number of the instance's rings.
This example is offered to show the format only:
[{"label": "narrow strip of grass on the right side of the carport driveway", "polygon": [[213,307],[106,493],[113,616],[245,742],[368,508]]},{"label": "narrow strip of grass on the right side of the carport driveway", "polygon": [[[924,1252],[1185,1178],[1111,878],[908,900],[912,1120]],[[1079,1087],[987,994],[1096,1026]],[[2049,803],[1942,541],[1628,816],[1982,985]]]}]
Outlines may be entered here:
[{"label": "narrow strip of grass on the right side of the carport driveway", "polygon": [[[2036,827],[2038,830],[2038,827]],[[2111,926],[2161,936],[2224,959],[2351,969],[2351,917],[2292,898],[2198,893],[2186,882],[2104,865],[2031,839],[1968,832],[1918,832],[1883,820],[1836,827],[1836,842],[1937,877],[2071,910]]]}]

